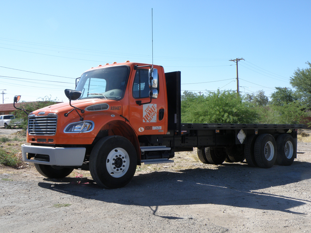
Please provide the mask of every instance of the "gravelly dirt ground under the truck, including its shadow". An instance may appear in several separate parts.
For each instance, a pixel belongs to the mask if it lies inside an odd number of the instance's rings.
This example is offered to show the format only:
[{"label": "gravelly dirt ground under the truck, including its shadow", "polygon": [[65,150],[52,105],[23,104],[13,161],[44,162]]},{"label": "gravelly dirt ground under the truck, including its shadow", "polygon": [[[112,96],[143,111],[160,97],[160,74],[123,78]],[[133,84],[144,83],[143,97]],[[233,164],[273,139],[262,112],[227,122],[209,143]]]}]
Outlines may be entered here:
[{"label": "gravelly dirt ground under the truck, including its shadow", "polygon": [[2,166],[0,232],[310,233],[311,143],[299,140],[298,152],[291,166],[270,169],[175,153],[174,163],[137,167],[115,190],[98,187],[87,171],[56,180],[31,164]]}]

